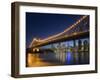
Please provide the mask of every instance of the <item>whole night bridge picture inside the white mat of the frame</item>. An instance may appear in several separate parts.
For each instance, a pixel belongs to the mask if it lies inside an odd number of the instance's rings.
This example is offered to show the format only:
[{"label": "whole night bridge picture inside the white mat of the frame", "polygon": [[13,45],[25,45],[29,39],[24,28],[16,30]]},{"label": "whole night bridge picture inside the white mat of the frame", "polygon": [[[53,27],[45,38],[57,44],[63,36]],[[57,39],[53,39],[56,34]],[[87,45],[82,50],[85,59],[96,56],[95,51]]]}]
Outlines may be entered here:
[{"label": "whole night bridge picture inside the white mat of the frame", "polygon": [[26,13],[26,45],[26,67],[89,64],[89,16]]}]

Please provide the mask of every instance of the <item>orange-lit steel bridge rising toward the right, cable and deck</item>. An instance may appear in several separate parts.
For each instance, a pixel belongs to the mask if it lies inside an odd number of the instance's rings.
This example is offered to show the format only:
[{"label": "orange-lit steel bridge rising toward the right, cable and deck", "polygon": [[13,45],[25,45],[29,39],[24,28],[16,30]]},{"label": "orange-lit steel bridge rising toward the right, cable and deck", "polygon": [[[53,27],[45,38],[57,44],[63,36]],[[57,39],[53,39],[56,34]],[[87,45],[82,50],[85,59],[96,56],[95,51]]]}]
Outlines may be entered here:
[{"label": "orange-lit steel bridge rising toward the right, cable and deck", "polygon": [[29,48],[33,49],[36,47],[45,46],[52,43],[83,39],[89,37],[89,16],[82,16],[74,24],[69,26],[63,32],[56,35],[49,36],[45,39],[34,38],[29,45]]}]

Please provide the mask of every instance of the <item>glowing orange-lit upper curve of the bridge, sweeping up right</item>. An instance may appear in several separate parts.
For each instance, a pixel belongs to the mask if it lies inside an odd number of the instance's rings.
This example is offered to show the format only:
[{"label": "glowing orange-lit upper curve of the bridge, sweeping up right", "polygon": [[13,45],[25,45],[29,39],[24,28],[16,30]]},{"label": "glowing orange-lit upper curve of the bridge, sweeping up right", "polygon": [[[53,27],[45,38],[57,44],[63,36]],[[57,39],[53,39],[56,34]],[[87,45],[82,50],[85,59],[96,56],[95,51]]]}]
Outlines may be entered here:
[{"label": "glowing orange-lit upper curve of the bridge, sweeping up right", "polygon": [[[65,29],[63,32],[60,32],[59,34],[56,34],[56,35],[53,35],[53,36],[50,36],[50,37],[47,37],[47,38],[44,38],[44,39],[36,39],[34,38],[32,43],[34,41],[37,42],[36,45],[41,45],[41,44],[44,44],[46,42],[50,42],[52,40],[56,40],[56,39],[59,39],[58,37],[61,37],[63,34],[66,34],[68,31],[70,31],[71,29],[73,29],[74,27],[76,27],[81,21],[83,21],[87,16],[82,16],[78,21],[76,21],[73,25],[71,25],[69,28]],[[72,35],[77,35],[78,33],[73,33]],[[31,43],[31,46],[33,45]],[[34,51],[34,50],[33,50]],[[36,49],[36,51],[39,51],[38,49]]]}]

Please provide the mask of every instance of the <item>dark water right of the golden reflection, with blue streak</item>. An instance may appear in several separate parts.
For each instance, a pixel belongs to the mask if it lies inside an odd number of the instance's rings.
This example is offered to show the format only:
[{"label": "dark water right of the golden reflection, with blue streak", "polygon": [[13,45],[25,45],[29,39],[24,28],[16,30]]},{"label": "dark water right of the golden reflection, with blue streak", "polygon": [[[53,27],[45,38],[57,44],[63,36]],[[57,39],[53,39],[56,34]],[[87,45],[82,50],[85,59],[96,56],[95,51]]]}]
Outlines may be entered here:
[{"label": "dark water right of the golden reflection, with blue streak", "polygon": [[48,53],[37,53],[37,54],[38,54],[38,58],[42,59],[43,62],[48,62],[51,64],[52,63],[59,64],[59,65],[89,64],[89,52],[87,51],[66,52],[66,53],[59,53],[59,54],[48,52]]}]

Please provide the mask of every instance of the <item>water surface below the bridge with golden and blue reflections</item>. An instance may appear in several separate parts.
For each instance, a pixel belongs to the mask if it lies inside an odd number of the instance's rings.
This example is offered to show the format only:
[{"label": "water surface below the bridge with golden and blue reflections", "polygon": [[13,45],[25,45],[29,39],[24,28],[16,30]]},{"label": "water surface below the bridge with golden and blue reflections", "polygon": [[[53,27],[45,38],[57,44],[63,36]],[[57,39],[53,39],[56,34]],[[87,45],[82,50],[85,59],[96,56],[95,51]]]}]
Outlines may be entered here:
[{"label": "water surface below the bridge with golden and blue reflections", "polygon": [[[66,52],[65,57],[56,58],[54,53],[38,53],[29,54],[28,65],[30,67],[34,66],[50,66],[50,65],[77,65],[77,64],[89,64],[89,52]],[[62,54],[60,54],[62,56]],[[65,58],[65,61],[63,62]]]}]

